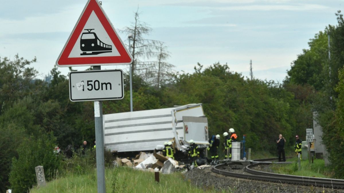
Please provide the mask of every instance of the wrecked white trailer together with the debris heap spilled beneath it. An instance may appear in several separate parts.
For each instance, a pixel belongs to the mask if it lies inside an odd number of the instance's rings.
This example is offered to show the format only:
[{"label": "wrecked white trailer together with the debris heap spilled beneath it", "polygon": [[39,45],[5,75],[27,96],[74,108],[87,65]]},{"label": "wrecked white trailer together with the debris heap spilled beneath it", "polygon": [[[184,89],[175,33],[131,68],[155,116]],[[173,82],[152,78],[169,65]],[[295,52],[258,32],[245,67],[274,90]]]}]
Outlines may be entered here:
[{"label": "wrecked white trailer together with the debris heap spilled beneath it", "polygon": [[202,104],[105,114],[103,124],[106,149],[116,153],[140,152],[133,162],[118,158],[117,163],[141,169],[160,168],[163,172],[166,167],[169,168],[166,171],[183,167],[159,152],[166,141],[173,141],[175,159],[182,161],[187,159],[188,141],[191,139],[202,153],[209,145],[208,120]]}]

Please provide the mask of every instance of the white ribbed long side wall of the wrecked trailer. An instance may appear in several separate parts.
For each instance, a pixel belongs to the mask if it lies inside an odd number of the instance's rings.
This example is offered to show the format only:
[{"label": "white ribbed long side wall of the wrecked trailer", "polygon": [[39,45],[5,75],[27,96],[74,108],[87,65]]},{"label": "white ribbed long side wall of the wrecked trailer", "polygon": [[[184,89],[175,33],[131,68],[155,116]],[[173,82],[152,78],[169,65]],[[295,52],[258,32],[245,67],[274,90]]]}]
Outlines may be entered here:
[{"label": "white ribbed long side wall of the wrecked trailer", "polygon": [[[174,125],[172,121],[175,120],[174,110],[180,108],[103,115],[105,147],[116,152],[148,151],[176,136],[184,141],[183,123]],[[183,110],[182,114],[204,116],[202,104],[191,105],[189,111],[187,113]],[[179,117],[176,117],[177,121],[180,121]]]}]

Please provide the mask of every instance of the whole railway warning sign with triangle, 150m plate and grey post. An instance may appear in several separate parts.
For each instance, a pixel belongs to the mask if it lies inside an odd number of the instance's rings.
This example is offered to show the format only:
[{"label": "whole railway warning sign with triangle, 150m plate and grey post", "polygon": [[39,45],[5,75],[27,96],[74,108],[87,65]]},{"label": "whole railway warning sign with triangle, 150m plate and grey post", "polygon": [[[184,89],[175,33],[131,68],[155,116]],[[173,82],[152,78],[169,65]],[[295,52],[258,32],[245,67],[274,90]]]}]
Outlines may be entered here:
[{"label": "whole railway warning sign with triangle, 150m plate and grey post", "polygon": [[[69,99],[71,101],[94,101],[97,141],[97,192],[105,193],[102,100],[123,98],[123,76],[121,70],[107,70],[120,71],[120,78],[119,75],[113,76],[112,79],[106,79],[106,76],[100,76],[99,78],[99,76],[95,75],[98,72],[105,75],[105,71],[101,71],[102,65],[130,65],[133,59],[103,8],[101,8],[100,3],[98,0],[87,1],[60,56],[56,60],[56,66],[93,66],[93,70],[98,70],[97,72],[87,73],[88,76],[81,76],[85,71],[70,72]],[[79,73],[79,75],[76,76],[76,73]],[[73,82],[72,75],[73,78],[77,77],[79,81]]]}]

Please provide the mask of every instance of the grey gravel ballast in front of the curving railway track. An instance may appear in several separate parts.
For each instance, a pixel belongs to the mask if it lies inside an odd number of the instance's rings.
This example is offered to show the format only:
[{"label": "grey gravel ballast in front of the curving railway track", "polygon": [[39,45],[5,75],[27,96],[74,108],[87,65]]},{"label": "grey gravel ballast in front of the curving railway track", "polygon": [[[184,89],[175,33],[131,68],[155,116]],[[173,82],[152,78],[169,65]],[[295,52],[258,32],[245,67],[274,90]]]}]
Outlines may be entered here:
[{"label": "grey gravel ballast in front of the curving railway track", "polygon": [[330,189],[314,186],[302,186],[292,184],[282,184],[273,182],[264,182],[256,180],[247,180],[241,178],[232,178],[211,172],[212,167],[198,169],[194,168],[184,174],[186,180],[204,190],[214,187],[218,191],[225,192],[344,192],[342,189]]}]

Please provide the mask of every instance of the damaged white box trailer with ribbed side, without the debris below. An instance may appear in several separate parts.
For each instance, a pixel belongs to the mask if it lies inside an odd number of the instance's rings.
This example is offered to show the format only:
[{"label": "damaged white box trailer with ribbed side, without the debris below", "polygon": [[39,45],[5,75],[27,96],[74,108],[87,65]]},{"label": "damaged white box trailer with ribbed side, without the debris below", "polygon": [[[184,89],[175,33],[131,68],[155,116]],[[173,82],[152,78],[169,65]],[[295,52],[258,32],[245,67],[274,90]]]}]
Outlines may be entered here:
[{"label": "damaged white box trailer with ribbed side, without the debris below", "polygon": [[105,147],[113,152],[149,151],[176,139],[185,151],[187,141],[208,143],[208,121],[202,104],[103,115]]}]

